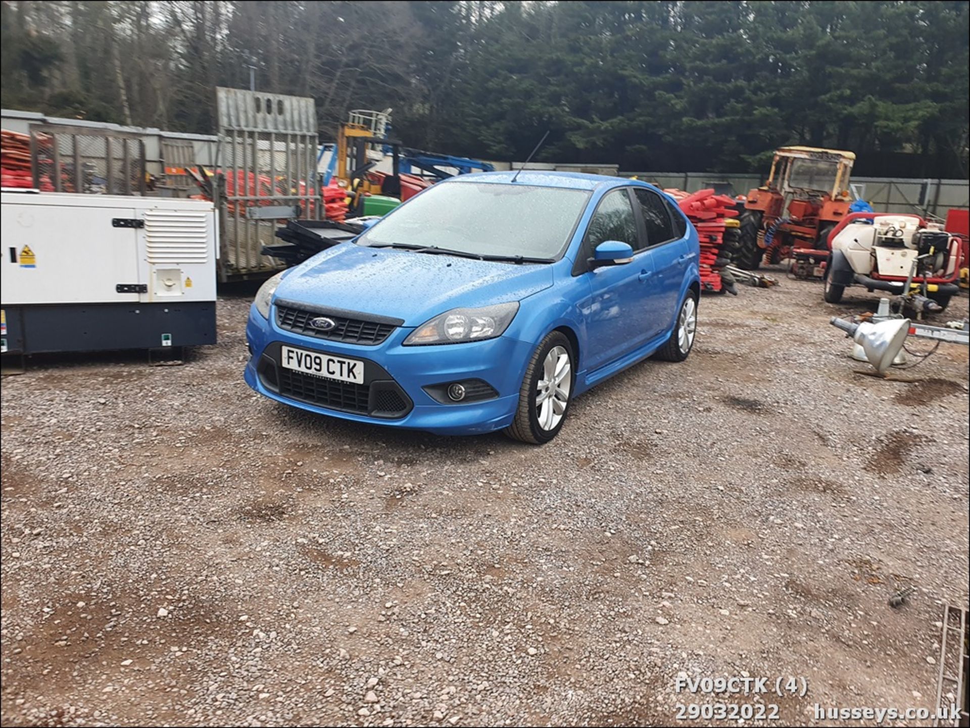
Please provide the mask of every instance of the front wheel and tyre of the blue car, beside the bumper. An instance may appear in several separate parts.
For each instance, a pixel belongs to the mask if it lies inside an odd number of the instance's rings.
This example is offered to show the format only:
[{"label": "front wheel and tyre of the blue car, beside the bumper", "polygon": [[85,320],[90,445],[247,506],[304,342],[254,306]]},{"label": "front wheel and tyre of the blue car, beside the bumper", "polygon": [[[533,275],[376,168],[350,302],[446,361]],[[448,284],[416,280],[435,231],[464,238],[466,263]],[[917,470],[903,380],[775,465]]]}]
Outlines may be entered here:
[{"label": "front wheel and tyre of the blue car, beside the bumper", "polygon": [[538,345],[519,389],[519,405],[504,432],[513,440],[542,445],[566,422],[575,384],[575,354],[562,332],[551,332]]}]

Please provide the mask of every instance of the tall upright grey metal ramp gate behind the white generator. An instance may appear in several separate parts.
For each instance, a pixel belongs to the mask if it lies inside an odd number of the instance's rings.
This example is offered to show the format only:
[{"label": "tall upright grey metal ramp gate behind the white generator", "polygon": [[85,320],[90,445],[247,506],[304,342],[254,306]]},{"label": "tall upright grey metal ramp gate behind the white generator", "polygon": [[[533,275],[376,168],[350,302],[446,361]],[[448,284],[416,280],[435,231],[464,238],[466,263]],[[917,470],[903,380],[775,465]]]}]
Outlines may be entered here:
[{"label": "tall upright grey metal ramp gate behind the white generator", "polygon": [[216,88],[219,121],[214,185],[220,215],[219,278],[261,277],[286,268],[262,255],[287,219],[320,219],[316,105],[311,98]]}]

